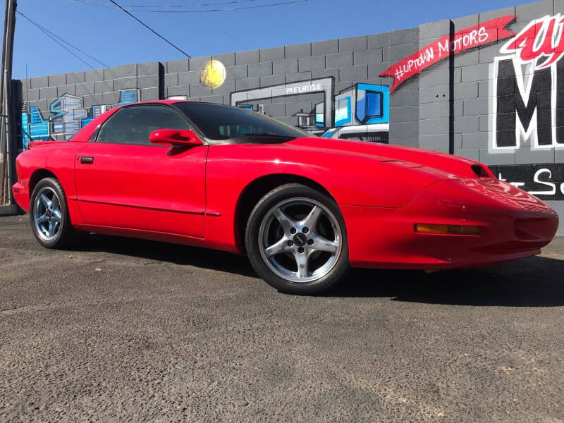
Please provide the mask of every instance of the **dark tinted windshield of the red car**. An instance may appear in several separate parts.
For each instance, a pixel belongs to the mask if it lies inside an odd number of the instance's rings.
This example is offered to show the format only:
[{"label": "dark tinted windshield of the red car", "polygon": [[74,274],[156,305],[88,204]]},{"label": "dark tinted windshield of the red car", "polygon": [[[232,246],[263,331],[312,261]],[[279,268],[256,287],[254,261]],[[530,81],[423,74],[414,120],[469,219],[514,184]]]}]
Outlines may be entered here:
[{"label": "dark tinted windshield of the red car", "polygon": [[209,140],[266,143],[312,136],[263,114],[238,107],[202,102],[178,102],[174,105]]}]

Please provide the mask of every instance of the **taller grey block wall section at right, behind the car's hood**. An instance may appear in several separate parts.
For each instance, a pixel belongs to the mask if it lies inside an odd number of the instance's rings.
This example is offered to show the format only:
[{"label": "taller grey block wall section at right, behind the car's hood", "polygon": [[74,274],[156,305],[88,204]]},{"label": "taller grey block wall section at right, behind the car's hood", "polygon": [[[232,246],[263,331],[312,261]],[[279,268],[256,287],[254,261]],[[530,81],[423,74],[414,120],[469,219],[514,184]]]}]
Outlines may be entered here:
[{"label": "taller grey block wall section at right, behind the car's hood", "polygon": [[[515,15],[515,19],[506,28],[518,35],[533,21],[549,19],[558,13],[564,14],[563,0],[544,0],[420,25],[419,48],[451,32],[509,15]],[[515,183],[551,204],[563,218],[564,137],[557,136],[552,145],[537,144],[542,140],[549,142],[547,138],[561,127],[556,123],[556,116],[564,114],[564,91],[559,85],[560,81],[564,82],[564,61],[557,61],[551,70],[546,71],[548,74],[540,76],[539,69],[527,65],[519,51],[501,51],[511,39],[513,37],[499,39],[454,54],[452,61],[441,61],[419,74],[419,147],[449,152],[450,142],[450,152],[482,161],[499,178]],[[515,68],[522,68],[522,75],[513,80],[512,75],[498,69],[496,61],[508,61]],[[563,71],[560,71],[561,67]],[[527,95],[528,81],[534,78],[541,82],[532,84]],[[530,107],[528,111],[527,106]],[[531,116],[535,109],[536,119]],[[553,117],[547,123],[549,118],[543,122],[539,116],[548,110]],[[529,116],[523,117],[520,112]],[[517,118],[526,126],[528,117],[531,118],[529,128],[537,126],[532,137],[527,139],[511,130],[508,132],[515,146],[501,148],[496,144],[499,123],[503,119],[515,122]],[[563,219],[560,219],[559,233],[564,233]]]}]

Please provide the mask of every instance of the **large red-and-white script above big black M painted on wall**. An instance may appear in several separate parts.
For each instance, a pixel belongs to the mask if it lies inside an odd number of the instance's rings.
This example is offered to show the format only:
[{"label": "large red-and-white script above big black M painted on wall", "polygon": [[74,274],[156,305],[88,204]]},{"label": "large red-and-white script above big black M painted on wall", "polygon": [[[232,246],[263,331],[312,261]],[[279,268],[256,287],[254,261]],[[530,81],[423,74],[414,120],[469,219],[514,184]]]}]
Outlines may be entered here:
[{"label": "large red-and-white script above big black M painted on wall", "polygon": [[533,20],[493,66],[492,149],[564,146],[564,18]]}]

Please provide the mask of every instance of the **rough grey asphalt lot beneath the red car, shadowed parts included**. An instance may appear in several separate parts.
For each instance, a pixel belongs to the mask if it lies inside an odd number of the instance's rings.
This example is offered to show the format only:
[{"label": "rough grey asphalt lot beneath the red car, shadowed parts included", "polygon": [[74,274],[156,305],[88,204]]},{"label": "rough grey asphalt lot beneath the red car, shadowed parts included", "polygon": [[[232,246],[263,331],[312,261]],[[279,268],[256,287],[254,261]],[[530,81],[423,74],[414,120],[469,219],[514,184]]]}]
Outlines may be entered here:
[{"label": "rough grey asphalt lot beneath the red car, shadowed parts included", "polygon": [[1,422],[563,422],[564,238],[277,293],[244,257],[0,218]]}]

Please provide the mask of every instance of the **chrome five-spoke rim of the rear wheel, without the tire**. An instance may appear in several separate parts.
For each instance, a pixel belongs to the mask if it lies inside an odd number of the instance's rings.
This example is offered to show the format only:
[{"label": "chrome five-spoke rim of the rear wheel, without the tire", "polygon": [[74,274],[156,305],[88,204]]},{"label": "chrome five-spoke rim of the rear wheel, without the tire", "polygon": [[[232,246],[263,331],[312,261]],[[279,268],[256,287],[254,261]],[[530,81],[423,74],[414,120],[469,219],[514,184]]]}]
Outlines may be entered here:
[{"label": "chrome five-spoke rim of the rear wheel, without the tire", "polygon": [[53,240],[59,233],[63,221],[61,203],[53,188],[44,187],[37,192],[33,216],[39,236],[46,241]]}]

